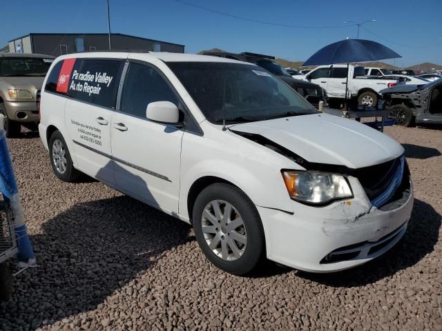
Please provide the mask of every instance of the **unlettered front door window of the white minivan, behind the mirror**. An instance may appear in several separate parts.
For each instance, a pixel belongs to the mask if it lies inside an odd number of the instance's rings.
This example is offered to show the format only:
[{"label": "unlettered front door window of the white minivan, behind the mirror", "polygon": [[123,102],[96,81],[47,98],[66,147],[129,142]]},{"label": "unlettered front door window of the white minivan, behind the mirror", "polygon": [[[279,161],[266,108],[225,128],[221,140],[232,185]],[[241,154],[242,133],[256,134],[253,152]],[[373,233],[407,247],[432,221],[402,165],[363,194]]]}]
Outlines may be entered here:
[{"label": "unlettered front door window of the white minivan, behind the mirror", "polygon": [[175,92],[157,70],[140,63],[131,63],[124,79],[120,110],[146,117],[147,105],[155,101],[171,101],[178,106]]}]

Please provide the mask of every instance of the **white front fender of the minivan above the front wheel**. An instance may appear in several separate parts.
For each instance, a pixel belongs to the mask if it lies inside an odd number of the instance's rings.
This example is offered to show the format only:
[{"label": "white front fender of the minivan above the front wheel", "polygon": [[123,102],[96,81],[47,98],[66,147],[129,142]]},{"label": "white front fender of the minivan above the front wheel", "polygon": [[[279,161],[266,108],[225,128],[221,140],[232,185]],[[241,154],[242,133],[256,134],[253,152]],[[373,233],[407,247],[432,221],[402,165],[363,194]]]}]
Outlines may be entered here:
[{"label": "white front fender of the minivan above the front wheel", "polygon": [[187,210],[187,194],[202,177],[218,177],[233,183],[256,205],[293,212],[293,201],[287,195],[280,170],[302,170],[300,165],[230,130],[223,131],[221,126],[208,121],[201,124],[204,137],[184,134],[180,214],[189,217],[192,212]]}]

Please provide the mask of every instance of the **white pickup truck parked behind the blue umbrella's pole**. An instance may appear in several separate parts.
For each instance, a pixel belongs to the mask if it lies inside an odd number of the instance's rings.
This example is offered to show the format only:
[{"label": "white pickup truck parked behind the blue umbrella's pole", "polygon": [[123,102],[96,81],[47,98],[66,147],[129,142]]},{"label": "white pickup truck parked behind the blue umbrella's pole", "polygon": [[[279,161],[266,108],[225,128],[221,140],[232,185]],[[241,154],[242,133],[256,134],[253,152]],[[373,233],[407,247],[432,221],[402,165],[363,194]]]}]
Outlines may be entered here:
[{"label": "white pickup truck parked behind the blue umbrella's pole", "polygon": [[[397,83],[396,79],[377,79],[366,77],[363,66],[348,66],[347,98],[357,98],[358,104],[375,107],[378,103],[379,91],[390,88]],[[318,84],[327,91],[327,97],[344,99],[347,80],[347,64],[318,66],[305,76],[298,76],[311,83]]]}]

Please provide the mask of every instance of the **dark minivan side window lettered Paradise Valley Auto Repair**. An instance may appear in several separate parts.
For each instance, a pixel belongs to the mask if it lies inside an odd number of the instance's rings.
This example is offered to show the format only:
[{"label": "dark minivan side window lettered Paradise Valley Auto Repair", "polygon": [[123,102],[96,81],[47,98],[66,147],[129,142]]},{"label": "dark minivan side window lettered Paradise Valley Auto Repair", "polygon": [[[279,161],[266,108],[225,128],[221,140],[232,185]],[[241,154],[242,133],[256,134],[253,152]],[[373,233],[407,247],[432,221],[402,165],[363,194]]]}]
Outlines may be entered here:
[{"label": "dark minivan side window lettered Paradise Valley Auto Repair", "polygon": [[123,61],[84,59],[80,68],[73,67],[68,95],[74,99],[115,108]]}]

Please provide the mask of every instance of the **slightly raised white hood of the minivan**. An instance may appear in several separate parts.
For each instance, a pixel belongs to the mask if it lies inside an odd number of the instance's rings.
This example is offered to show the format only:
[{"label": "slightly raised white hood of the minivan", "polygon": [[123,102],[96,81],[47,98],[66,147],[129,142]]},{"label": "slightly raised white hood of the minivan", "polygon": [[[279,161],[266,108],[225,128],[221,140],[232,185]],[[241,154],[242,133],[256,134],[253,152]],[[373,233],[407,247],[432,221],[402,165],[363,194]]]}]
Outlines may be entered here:
[{"label": "slightly raised white hood of the minivan", "polygon": [[309,163],[364,168],[400,157],[404,149],[385,134],[329,114],[236,124],[234,132],[259,134]]}]

